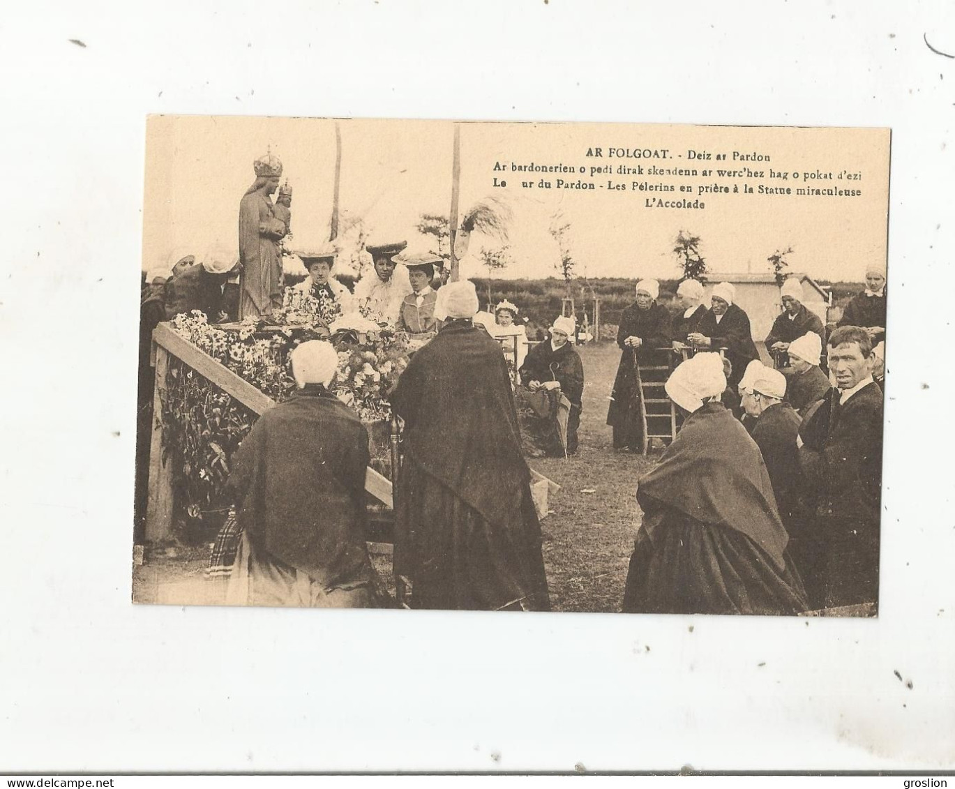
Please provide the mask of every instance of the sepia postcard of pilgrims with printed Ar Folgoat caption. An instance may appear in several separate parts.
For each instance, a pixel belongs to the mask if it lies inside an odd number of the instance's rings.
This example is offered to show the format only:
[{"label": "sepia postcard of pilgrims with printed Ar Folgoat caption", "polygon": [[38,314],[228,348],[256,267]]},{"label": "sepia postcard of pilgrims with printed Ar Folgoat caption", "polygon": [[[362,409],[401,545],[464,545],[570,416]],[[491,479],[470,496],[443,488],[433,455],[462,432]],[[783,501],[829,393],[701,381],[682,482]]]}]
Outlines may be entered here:
[{"label": "sepia postcard of pilgrims with printed Ar Folgoat caption", "polygon": [[149,117],[133,600],[876,616],[889,151]]}]

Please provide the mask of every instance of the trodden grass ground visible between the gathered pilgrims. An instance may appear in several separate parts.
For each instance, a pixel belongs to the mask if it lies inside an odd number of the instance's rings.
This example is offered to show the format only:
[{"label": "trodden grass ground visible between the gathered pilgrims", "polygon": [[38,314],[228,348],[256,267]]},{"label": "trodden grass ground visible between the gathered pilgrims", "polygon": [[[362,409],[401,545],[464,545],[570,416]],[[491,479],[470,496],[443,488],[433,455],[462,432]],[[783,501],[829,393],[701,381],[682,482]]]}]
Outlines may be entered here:
[{"label": "trodden grass ground visible between the gathered pilgrims", "polygon": [[[580,449],[574,457],[535,458],[531,465],[561,485],[541,522],[551,605],[562,611],[617,611],[639,522],[636,480],[651,460],[614,451],[605,425],[607,398],[620,351],[601,344],[581,349],[586,384]],[[138,603],[215,605],[217,590],[203,577],[205,547],[154,550],[134,570]],[[374,564],[391,584],[391,561]]]}]

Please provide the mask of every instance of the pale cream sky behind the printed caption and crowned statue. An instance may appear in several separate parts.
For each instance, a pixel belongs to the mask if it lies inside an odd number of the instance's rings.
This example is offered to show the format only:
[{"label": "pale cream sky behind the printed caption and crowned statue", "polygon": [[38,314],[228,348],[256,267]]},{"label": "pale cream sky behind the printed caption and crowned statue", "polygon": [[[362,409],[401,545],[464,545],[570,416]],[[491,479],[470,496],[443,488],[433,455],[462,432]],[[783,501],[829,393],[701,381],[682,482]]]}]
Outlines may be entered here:
[{"label": "pale cream sky behind the printed caption and crowned statue", "polygon": [[[288,246],[307,250],[324,245],[335,122],[150,117],[142,267],[161,266],[173,250],[237,247],[239,201],[254,181],[252,162],[266,151],[282,160],[283,180],[294,190]],[[454,124],[367,119],[338,124],[343,220],[360,218],[372,242],[405,240],[410,250],[427,249],[430,240],[414,225],[422,213],[449,213]],[[512,262],[496,277],[560,276],[560,250],[549,232],[555,215],[570,225],[566,237],[576,273],[588,277],[678,277],[672,247],[680,230],[702,239],[711,279],[721,272],[768,272],[766,258],[790,246],[790,270],[817,279],[860,281],[869,261],[885,260],[889,135],[884,129],[503,122],[465,122],[460,128],[460,212],[494,197],[512,215],[507,238]],[[727,160],[716,160],[721,152]],[[733,152],[738,158],[762,160],[733,161]],[[515,171],[515,164],[562,165],[574,172],[522,172]],[[643,167],[644,173],[618,174],[621,165]],[[606,166],[610,173],[591,173],[592,167]],[[651,175],[651,166],[695,168],[697,175]],[[751,173],[712,175],[715,168],[745,167]],[[771,168],[790,175],[785,181],[770,179]],[[793,173],[799,174],[797,180]],[[823,176],[809,181],[812,187],[858,189],[861,194],[796,197],[757,191],[760,185],[795,191],[805,173]],[[838,173],[858,178],[837,180]],[[833,178],[824,178],[826,174]],[[506,185],[496,185],[496,179]],[[557,188],[558,179],[593,182],[598,188]],[[541,181],[549,181],[551,188],[541,188]],[[624,188],[611,190],[610,181]],[[636,190],[634,182],[672,184],[676,191]],[[743,189],[744,183],[752,194],[700,194],[713,186]],[[681,185],[690,193],[681,194]],[[647,207],[655,199],[699,200],[705,207]],[[461,262],[462,274],[486,275],[477,252],[501,243],[475,233]]]}]

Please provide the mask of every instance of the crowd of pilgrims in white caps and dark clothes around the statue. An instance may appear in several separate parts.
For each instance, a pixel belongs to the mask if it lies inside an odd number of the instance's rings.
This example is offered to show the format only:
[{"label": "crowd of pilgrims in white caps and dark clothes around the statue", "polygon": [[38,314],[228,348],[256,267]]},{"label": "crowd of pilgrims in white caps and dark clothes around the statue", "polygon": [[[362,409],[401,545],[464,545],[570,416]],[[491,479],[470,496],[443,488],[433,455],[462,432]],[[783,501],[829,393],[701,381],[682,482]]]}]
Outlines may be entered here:
[{"label": "crowd of pilgrims in white caps and dark clothes around the statue", "polygon": [[[297,288],[422,340],[390,394],[403,423],[397,599],[365,544],[368,434],[329,394],[337,356],[322,340],[295,349],[295,396],[267,411],[236,453],[236,517],[211,564],[228,565],[230,600],[248,605],[549,609],[514,370],[518,389],[542,398],[545,419],[562,404],[562,453],[576,452],[584,367],[574,319],[556,318],[532,345],[516,305],[491,315],[472,283],[441,286],[437,256],[408,254],[404,243],[367,248],[373,268],[353,293],[332,275],[330,252],[309,258]],[[146,353],[161,320],[242,311],[241,288],[229,287],[235,255],[179,255],[147,276]],[[638,284],[617,336],[613,445],[644,446],[638,380],[665,390],[681,427],[638,480],[643,521],[623,610],[796,614],[877,601],[884,268],[866,282],[828,336],[799,282],[783,284],[766,347],[785,375],[759,360],[729,283],[712,288],[708,306],[700,283],[682,282],[675,317],[655,281]]]}]

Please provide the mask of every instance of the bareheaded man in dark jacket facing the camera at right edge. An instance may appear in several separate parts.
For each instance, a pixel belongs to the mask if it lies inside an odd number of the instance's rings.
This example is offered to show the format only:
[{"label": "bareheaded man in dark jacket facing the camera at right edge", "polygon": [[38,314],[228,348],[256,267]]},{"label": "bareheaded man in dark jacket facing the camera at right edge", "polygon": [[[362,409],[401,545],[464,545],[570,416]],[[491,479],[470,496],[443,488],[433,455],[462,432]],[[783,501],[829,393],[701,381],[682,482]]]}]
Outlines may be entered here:
[{"label": "bareheaded man in dark jacket facing the camera at right edge", "polygon": [[817,403],[799,431],[807,494],[815,494],[812,540],[824,556],[827,608],[878,604],[882,393],[872,378],[869,333],[843,326],[829,338],[838,389]]}]

